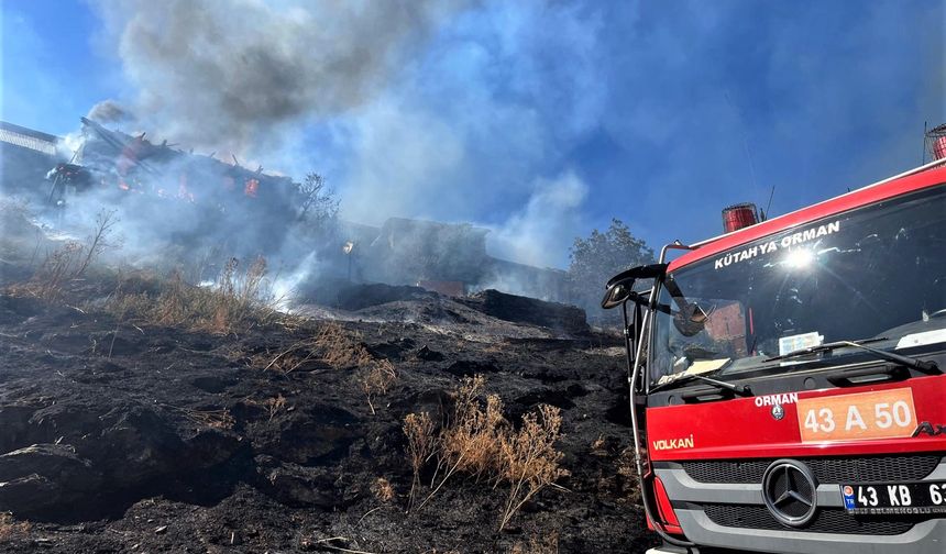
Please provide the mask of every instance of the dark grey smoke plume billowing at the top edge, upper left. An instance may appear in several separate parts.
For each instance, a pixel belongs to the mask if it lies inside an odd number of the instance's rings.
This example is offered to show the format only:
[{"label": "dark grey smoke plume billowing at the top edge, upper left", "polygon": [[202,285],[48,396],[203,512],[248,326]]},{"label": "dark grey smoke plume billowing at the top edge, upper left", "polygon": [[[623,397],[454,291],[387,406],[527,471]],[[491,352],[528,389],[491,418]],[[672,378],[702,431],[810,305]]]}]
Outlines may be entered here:
[{"label": "dark grey smoke plume billowing at the top edge, upper left", "polygon": [[[463,0],[100,0],[152,134],[212,149],[359,106]],[[144,115],[147,115],[145,119]]]}]

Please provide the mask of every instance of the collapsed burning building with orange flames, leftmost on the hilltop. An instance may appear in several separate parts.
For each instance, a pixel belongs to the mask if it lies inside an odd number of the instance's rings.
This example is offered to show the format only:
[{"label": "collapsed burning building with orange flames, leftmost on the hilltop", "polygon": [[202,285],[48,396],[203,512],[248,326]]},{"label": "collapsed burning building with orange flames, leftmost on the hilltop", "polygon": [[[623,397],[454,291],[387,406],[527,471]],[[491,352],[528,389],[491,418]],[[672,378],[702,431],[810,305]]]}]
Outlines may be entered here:
[{"label": "collapsed burning building with orange flames, leftmost on the hilltop", "polygon": [[[293,221],[286,214],[298,206],[288,177],[155,144],[143,133],[111,131],[86,118],[81,122],[76,144],[74,137],[3,123],[3,191],[48,209],[72,206],[65,212],[75,219],[118,209],[134,244],[191,252],[222,246],[237,256],[278,252]],[[276,213],[282,217],[268,217]]]}]

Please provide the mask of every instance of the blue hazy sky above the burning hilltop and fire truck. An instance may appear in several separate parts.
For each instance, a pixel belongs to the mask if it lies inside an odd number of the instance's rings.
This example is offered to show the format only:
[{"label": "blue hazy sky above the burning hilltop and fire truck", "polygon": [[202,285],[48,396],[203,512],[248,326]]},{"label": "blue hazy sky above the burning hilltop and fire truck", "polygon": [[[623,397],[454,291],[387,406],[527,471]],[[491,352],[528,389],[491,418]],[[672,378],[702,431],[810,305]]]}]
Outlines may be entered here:
[{"label": "blue hazy sky above the burning hilltop and fire truck", "polygon": [[[305,20],[293,4],[258,13]],[[765,204],[773,186],[778,214],[869,184],[919,165],[924,122],[946,122],[944,0],[457,4],[431,9],[424,32],[388,33],[391,59],[350,101],[326,100],[336,80],[320,68],[326,85],[307,85],[292,117],[211,145],[187,125],[212,112],[162,96],[184,62],[130,38],[133,10],[7,0],[0,118],[65,134],[116,99],[150,136],[322,173],[351,219],[472,221],[493,229],[495,252],[557,266],[610,218],[659,247],[718,234],[722,208]],[[359,31],[324,47],[384,35],[365,9],[334,20]],[[320,59],[320,44],[302,47]]]}]

